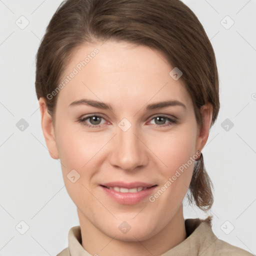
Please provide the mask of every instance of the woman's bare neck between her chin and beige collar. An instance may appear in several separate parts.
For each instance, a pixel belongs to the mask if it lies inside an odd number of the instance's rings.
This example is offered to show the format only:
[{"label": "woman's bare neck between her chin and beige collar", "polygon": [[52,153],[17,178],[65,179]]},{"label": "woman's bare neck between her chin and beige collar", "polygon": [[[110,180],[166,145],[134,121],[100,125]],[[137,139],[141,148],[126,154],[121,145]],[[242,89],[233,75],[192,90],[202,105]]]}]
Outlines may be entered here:
[{"label": "woman's bare neck between her chin and beige collar", "polygon": [[77,208],[82,247],[91,255],[161,255],[186,238],[182,204],[160,232],[143,241],[123,241],[109,237],[94,226]]}]

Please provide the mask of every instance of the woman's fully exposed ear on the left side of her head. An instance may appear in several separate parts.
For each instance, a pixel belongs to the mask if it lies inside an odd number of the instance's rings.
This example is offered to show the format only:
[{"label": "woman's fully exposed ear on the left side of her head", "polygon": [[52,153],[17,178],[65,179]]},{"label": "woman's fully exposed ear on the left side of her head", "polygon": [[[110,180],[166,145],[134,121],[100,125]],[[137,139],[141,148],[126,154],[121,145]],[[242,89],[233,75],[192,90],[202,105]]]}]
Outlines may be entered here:
[{"label": "woman's fully exposed ear on the left side of her head", "polygon": [[53,159],[58,159],[58,150],[55,141],[54,129],[51,115],[47,111],[46,100],[43,97],[39,98],[39,106],[41,113],[41,126],[43,136],[49,150],[49,154]]}]

